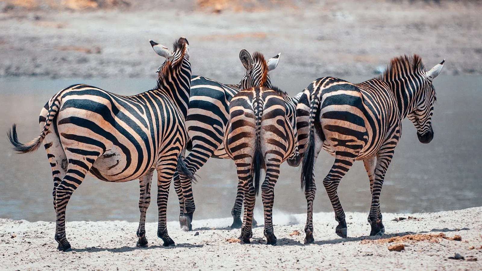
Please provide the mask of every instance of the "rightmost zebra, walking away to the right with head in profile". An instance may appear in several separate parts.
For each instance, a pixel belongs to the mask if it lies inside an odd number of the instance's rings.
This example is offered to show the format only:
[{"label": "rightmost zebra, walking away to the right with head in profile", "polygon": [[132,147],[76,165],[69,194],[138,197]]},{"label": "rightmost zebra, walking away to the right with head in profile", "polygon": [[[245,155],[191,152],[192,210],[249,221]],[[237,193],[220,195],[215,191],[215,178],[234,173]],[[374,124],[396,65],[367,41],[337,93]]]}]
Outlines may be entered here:
[{"label": "rightmost zebra, walking away to the right with head in profile", "polygon": [[408,117],[421,143],[433,138],[432,114],[436,101],[432,81],[443,64],[426,71],[418,55],[393,58],[379,78],[352,84],[324,77],[305,89],[296,109],[300,155],[303,156],[301,187],[308,203],[305,244],[313,243],[313,200],[316,185],[314,164],[321,148],[335,156],[323,186],[335,210],[336,234],[347,237],[345,213],[337,187],[355,160],[362,160],[372,193],[368,222],[370,235],[382,235],[380,192],[395,146],[402,134],[401,122]]}]

